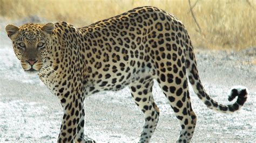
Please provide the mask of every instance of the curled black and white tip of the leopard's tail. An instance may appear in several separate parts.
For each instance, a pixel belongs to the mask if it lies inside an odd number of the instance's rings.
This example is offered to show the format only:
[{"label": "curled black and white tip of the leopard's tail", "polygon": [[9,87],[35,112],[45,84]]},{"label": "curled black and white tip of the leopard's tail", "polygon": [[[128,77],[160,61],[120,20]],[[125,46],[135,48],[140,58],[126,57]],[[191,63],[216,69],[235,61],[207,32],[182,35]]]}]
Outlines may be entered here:
[{"label": "curled black and white tip of the leopard's tail", "polygon": [[235,97],[244,98],[246,100],[248,95],[248,89],[242,86],[232,87],[230,94],[228,94],[228,101],[232,101]]}]

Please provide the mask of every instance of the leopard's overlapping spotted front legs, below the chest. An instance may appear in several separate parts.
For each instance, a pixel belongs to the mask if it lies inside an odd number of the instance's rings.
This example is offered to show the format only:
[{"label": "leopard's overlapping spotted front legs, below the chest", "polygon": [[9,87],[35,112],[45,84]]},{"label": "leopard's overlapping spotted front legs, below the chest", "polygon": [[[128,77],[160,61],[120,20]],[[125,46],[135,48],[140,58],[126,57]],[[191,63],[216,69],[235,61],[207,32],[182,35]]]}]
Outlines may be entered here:
[{"label": "leopard's overlapping spotted front legs, below the chest", "polygon": [[[66,91],[66,94],[70,91]],[[60,99],[64,109],[58,142],[95,142],[84,135],[84,97],[82,92],[63,96]]]}]

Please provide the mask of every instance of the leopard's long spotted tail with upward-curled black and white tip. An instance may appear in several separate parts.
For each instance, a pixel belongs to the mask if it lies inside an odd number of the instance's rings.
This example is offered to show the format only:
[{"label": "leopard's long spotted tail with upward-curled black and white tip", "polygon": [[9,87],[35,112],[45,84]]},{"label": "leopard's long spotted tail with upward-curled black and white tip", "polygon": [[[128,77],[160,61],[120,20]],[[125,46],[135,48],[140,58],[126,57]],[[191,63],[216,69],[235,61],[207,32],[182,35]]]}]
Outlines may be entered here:
[{"label": "leopard's long spotted tail with upward-curled black and white tip", "polygon": [[235,97],[238,96],[237,101],[233,104],[223,105],[214,101],[214,99],[206,93],[200,81],[196,57],[194,55],[194,50],[188,34],[186,34],[186,40],[184,45],[186,47],[186,75],[193,87],[194,92],[201,99],[201,101],[203,101],[208,108],[217,112],[233,113],[240,110],[242,105],[244,105],[244,103],[246,102],[248,89],[242,86],[235,86],[231,88],[228,94],[228,101],[232,101]]}]

